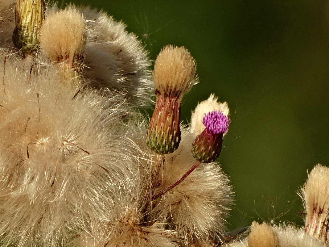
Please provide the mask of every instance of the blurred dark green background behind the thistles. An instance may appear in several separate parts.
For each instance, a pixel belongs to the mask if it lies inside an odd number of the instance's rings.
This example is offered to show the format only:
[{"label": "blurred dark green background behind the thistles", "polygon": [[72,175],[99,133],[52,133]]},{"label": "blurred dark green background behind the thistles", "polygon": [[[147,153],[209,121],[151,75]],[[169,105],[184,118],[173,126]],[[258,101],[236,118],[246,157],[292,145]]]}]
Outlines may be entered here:
[{"label": "blurred dark green background behind the thistles", "polygon": [[296,191],[329,165],[329,1],[74,0],[102,8],[136,33],[155,59],[184,45],[200,83],[182,118],[211,93],[232,124],[219,158],[234,185],[229,228],[253,220],[302,224]]}]

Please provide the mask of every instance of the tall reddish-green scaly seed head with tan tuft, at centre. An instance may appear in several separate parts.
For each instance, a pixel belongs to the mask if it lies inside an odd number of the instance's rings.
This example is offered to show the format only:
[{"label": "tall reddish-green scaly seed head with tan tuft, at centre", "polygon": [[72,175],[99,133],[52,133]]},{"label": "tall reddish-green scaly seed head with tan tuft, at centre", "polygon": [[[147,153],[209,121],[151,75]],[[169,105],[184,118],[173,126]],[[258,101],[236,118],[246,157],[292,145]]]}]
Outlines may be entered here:
[{"label": "tall reddish-green scaly seed head with tan tuft, at centre", "polygon": [[172,153],[181,140],[180,103],[196,83],[195,60],[185,47],[167,45],[154,63],[156,105],[147,130],[147,145],[156,153]]}]

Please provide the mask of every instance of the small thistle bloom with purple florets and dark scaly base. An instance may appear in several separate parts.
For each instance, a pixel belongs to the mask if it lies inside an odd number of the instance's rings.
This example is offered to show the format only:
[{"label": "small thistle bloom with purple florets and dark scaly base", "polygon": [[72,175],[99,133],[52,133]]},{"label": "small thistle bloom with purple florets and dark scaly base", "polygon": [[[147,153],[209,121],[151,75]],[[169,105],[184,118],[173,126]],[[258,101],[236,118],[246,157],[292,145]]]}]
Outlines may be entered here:
[{"label": "small thistle bloom with purple florets and dark scaly base", "polygon": [[231,121],[222,112],[212,111],[205,114],[202,123],[205,129],[192,143],[192,154],[198,161],[210,163],[219,157],[223,134],[227,132]]}]

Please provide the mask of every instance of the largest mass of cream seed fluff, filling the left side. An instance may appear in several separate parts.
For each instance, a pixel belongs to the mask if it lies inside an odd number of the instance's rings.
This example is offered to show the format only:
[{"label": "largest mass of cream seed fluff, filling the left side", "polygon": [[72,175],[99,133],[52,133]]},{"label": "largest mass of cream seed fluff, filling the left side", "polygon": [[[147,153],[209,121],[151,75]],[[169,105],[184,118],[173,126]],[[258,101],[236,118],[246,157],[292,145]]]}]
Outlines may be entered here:
[{"label": "largest mass of cream seed fluff, filling the left side", "polygon": [[100,222],[115,225],[139,191],[138,149],[120,96],[61,86],[56,67],[0,61],[0,241],[66,246]]}]

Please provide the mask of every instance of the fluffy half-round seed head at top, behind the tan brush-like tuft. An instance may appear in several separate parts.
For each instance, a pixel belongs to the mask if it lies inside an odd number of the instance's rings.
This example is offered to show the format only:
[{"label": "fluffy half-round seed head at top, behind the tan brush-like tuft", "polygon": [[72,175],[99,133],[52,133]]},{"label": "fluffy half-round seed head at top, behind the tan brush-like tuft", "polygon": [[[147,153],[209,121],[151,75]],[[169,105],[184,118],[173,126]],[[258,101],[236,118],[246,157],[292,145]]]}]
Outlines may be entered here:
[{"label": "fluffy half-round seed head at top, behind the tan brush-like tuft", "polygon": [[148,105],[154,83],[151,62],[141,42],[125,30],[122,22],[116,22],[103,11],[82,6],[77,9],[87,25],[83,76],[89,79],[88,85],[116,90],[137,106]]}]

